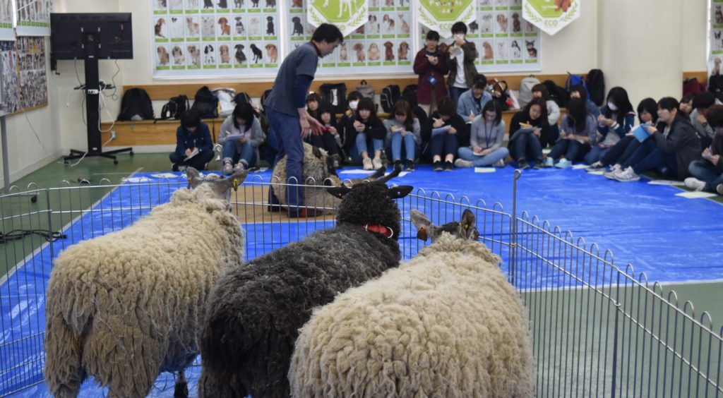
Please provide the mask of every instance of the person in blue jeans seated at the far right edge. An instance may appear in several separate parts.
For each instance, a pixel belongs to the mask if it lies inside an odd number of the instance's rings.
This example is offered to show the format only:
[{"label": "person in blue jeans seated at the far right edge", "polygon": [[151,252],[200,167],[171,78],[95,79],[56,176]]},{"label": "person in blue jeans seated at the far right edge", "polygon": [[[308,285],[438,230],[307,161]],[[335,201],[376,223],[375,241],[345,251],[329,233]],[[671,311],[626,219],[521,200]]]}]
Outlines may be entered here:
[{"label": "person in blue jeans seated at the far right edge", "polygon": [[708,125],[715,134],[711,147],[703,150],[701,160],[693,160],[685,178],[685,186],[696,191],[718,192],[723,195],[723,105],[712,105],[706,114]]}]

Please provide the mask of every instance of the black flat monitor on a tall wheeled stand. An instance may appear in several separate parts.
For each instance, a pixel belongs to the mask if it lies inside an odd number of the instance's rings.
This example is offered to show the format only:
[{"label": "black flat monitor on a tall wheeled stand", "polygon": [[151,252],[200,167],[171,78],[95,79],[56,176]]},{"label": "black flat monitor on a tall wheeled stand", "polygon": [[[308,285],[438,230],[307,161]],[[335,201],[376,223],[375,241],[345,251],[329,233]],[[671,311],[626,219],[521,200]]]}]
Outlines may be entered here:
[{"label": "black flat monitor on a tall wheeled stand", "polygon": [[132,59],[130,13],[50,15],[51,58]]}]

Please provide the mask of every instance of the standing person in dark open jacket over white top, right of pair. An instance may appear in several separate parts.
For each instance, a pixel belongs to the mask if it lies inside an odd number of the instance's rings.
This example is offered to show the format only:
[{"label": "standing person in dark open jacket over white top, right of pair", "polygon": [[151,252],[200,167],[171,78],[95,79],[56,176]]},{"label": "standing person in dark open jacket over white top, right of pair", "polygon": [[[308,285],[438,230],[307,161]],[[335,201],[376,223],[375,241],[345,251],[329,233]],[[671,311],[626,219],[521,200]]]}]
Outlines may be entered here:
[{"label": "standing person in dark open jacket over white top, right of pair", "polygon": [[456,104],[459,96],[469,90],[474,84],[477,69],[474,60],[477,59],[477,48],[474,43],[466,40],[467,25],[464,22],[455,22],[452,25],[453,43],[447,48],[449,54],[450,74],[447,84],[450,87],[450,98]]}]

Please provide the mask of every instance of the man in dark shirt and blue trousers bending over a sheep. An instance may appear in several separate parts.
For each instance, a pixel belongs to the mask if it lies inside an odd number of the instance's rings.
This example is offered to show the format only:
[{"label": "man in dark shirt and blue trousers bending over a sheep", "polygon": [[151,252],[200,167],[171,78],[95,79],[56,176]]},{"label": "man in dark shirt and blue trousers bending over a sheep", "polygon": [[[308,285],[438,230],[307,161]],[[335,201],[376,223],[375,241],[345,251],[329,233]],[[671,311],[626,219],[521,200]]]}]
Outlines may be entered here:
[{"label": "man in dark shirt and blue trousers bending over a sheep", "polygon": [[[296,48],[283,60],[271,94],[264,103],[271,131],[278,142],[276,161],[286,155],[286,178],[293,184],[286,189],[289,217],[314,217],[304,208],[301,186],[304,183],[304,146],[309,134],[322,134],[322,125],[307,113],[307,94],[316,73],[319,58],[327,56],[344,40],[338,27],[321,24],[309,43]],[[286,183],[287,181],[283,181]],[[269,204],[278,200],[269,190]]]}]

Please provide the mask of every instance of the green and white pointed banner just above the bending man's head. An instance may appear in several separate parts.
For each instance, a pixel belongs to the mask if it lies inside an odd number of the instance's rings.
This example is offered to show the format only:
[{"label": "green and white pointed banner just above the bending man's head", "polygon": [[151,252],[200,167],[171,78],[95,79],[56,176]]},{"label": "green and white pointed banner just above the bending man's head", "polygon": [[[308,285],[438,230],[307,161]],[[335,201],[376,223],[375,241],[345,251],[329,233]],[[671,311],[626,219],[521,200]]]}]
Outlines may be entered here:
[{"label": "green and white pointed banner just above the bending man's head", "polygon": [[344,36],[350,35],[369,18],[367,0],[309,0],[307,22],[336,25]]}]

